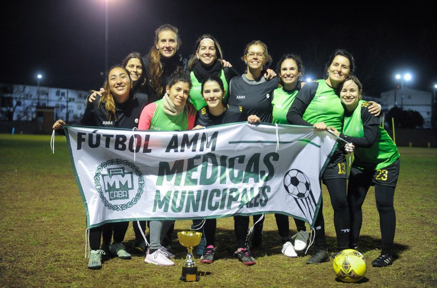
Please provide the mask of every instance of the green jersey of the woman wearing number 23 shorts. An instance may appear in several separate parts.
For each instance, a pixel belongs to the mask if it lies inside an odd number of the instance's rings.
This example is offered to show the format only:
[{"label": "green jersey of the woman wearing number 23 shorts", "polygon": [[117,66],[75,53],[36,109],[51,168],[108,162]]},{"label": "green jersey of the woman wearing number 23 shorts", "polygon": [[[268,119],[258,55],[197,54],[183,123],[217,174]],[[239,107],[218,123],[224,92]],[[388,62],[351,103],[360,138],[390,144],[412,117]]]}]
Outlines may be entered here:
[{"label": "green jersey of the woman wearing number 23 shorts", "polygon": [[[367,109],[367,103],[366,101],[360,100],[353,114],[350,117],[344,117],[344,135],[352,137],[364,136],[364,126],[366,123],[363,123],[361,114],[370,114]],[[375,118],[374,116],[371,117]],[[399,156],[400,154],[397,151],[396,144],[390,138],[387,131],[378,125],[376,140],[372,147],[355,148],[355,159],[352,166],[367,170],[381,169],[393,164]]]}]

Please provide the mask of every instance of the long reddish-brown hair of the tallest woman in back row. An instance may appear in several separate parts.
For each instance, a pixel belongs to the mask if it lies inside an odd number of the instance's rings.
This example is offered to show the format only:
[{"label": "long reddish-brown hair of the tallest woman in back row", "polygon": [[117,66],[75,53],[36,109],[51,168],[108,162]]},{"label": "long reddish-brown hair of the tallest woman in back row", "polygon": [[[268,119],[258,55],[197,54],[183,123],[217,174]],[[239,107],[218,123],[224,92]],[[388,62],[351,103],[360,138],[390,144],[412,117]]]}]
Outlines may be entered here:
[{"label": "long reddish-brown hair of the tallest woman in back row", "polygon": [[156,30],[155,30],[155,44],[150,48],[149,51],[149,62],[150,62],[150,82],[151,82],[151,86],[154,89],[154,91],[156,92],[156,95],[159,97],[160,95],[162,95],[162,86],[161,86],[161,81],[162,81],[162,73],[163,73],[163,68],[162,68],[162,63],[160,60],[160,54],[159,54],[159,50],[156,49],[156,43],[158,43],[158,36],[159,33],[162,31],[172,31],[173,33],[175,33],[176,35],[176,41],[177,41],[177,47],[179,47],[182,44],[182,40],[179,38],[179,34],[178,34],[178,29],[170,24],[165,24],[162,26],[159,26]]}]

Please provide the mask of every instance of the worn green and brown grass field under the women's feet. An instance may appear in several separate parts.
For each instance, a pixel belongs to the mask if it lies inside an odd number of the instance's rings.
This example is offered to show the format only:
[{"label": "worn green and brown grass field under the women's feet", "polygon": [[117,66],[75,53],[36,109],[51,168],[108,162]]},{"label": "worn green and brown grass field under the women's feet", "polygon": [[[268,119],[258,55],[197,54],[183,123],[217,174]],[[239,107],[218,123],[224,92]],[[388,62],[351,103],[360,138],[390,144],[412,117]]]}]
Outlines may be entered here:
[{"label": "worn green and brown grass field under the women's feet", "polygon": [[[85,212],[71,169],[64,137],[56,137],[55,154],[49,136],[0,135],[0,287],[344,287],[335,280],[332,261],[306,265],[309,256],[287,259],[281,254],[275,218],[267,215],[264,243],[254,251],[257,264],[244,266],[232,257],[235,237],[232,218],[217,221],[217,256],[211,265],[199,263],[201,280],[179,281],[186,249],[173,241],[176,265],[144,264],[107,258],[98,271],[84,258]],[[363,206],[360,250],[368,271],[360,287],[437,286],[437,149],[400,148],[401,170],[395,193],[398,259],[374,268],[379,255],[379,218],[371,188]],[[336,249],[333,211],[323,188],[328,246]],[[291,221],[291,232],[295,233]],[[175,230],[188,229],[176,222]],[[177,237],[174,237],[177,238]],[[125,245],[134,239],[128,229]],[[313,248],[313,247],[312,247]],[[309,253],[312,252],[310,248]]]}]

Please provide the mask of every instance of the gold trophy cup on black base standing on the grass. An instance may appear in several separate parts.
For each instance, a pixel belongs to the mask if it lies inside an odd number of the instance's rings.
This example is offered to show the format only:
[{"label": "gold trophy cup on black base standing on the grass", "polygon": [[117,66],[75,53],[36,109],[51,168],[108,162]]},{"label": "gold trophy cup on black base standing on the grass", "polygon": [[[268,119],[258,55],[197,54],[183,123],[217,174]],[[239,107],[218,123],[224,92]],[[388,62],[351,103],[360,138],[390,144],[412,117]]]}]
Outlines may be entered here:
[{"label": "gold trophy cup on black base standing on the grass", "polygon": [[179,243],[188,248],[188,254],[182,266],[182,276],[180,280],[185,282],[199,281],[197,275],[197,265],[193,257],[193,247],[201,242],[202,233],[193,231],[177,232]]}]

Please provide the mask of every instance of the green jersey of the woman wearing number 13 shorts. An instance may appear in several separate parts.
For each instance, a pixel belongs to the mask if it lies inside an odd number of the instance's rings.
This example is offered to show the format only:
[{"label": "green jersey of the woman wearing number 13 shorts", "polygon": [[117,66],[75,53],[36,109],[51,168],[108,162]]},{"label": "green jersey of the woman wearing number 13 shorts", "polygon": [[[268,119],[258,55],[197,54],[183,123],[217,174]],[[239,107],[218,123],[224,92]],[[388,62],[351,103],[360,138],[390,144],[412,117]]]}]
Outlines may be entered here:
[{"label": "green jersey of the woman wearing number 13 shorts", "polygon": [[325,80],[316,81],[319,83],[316,94],[306,107],[302,118],[311,124],[324,122],[327,126],[332,126],[341,133],[344,109],[340,98],[335,93],[334,88],[326,84]]}]

